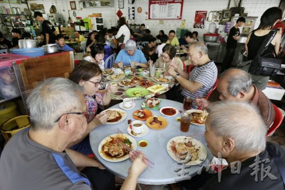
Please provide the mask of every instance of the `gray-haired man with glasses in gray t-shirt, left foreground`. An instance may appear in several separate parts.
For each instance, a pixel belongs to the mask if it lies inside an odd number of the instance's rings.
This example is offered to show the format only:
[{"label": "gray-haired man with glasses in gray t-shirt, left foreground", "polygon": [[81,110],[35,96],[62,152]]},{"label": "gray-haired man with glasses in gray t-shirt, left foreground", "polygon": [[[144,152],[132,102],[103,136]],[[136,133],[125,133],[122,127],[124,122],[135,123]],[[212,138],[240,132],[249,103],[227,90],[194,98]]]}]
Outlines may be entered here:
[{"label": "gray-haired man with glasses in gray t-shirt, left foreground", "polygon": [[[0,159],[0,189],[115,189],[115,176],[94,158],[66,149],[87,128],[82,89],[65,78],[48,78],[26,100],[31,128],[16,133]],[[134,159],[134,158],[133,158]],[[146,169],[135,158],[135,179]],[[84,168],[81,173],[78,168]],[[87,177],[87,178],[86,178]]]}]

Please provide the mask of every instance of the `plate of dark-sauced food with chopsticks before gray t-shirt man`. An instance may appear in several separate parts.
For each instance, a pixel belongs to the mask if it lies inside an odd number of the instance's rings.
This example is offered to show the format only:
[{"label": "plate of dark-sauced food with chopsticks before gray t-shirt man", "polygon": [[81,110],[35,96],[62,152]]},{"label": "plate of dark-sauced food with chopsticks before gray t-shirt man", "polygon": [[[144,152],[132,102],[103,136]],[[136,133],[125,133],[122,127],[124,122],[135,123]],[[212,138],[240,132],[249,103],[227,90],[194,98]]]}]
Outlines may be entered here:
[{"label": "plate of dark-sauced food with chopsticks before gray t-shirt man", "polygon": [[133,150],[136,150],[136,141],[130,135],[123,133],[111,134],[103,139],[98,147],[99,155],[104,160],[110,162],[119,162],[129,158],[129,150],[119,143],[117,139],[122,141]]}]

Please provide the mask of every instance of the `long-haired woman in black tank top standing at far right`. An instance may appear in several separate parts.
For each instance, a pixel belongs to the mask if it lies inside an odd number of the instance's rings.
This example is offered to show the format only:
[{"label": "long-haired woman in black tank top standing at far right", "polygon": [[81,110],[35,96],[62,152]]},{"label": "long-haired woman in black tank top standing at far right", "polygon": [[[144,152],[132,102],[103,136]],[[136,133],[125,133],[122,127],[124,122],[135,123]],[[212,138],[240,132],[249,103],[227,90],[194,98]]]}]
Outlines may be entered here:
[{"label": "long-haired woman in black tank top standing at far right", "polygon": [[[247,53],[248,60],[253,60],[257,56],[264,39],[273,29],[273,26],[276,24],[276,22],[279,21],[281,18],[282,10],[278,7],[271,7],[263,13],[260,19],[259,28],[257,30],[252,31],[252,33],[248,35],[247,40],[245,42],[245,50]],[[274,38],[272,39],[270,45],[262,53],[261,57],[274,57],[275,53],[277,54],[279,51],[280,40],[281,34],[277,32]],[[246,65],[243,70],[248,71],[249,67],[250,64]],[[270,76],[251,74],[252,84],[257,86],[260,90],[264,90],[269,80],[269,77]]]}]

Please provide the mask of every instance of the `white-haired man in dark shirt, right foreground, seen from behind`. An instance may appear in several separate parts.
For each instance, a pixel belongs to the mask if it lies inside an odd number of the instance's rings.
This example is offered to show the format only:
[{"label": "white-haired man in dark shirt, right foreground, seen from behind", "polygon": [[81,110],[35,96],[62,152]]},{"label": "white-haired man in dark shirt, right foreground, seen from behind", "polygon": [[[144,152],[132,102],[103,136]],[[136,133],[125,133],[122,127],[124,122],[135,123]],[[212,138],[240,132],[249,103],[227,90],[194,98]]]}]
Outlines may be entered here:
[{"label": "white-haired man in dark shirt, right foreground, seen from behind", "polygon": [[[229,167],[216,174],[197,175],[182,182],[187,189],[285,189],[280,174],[285,150],[266,142],[259,109],[247,102],[219,101],[210,106],[205,139],[211,153]],[[250,130],[248,129],[250,126]],[[277,164],[279,160],[279,164]],[[205,175],[207,177],[205,177]]]}]

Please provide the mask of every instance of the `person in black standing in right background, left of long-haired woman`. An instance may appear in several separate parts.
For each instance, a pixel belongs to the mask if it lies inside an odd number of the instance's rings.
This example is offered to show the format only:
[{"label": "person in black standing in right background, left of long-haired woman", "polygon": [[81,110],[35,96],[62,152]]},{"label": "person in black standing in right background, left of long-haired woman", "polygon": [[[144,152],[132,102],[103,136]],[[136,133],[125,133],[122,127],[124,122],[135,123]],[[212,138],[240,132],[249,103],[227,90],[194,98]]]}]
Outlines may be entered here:
[{"label": "person in black standing in right background, left of long-haired woman", "polygon": [[231,64],[235,56],[237,43],[238,43],[238,40],[240,39],[239,27],[242,26],[244,22],[245,22],[245,18],[239,17],[237,20],[237,23],[230,30],[229,37],[227,38],[227,41],[226,41],[226,53],[225,53],[225,57],[222,63],[221,72],[231,67]]}]

